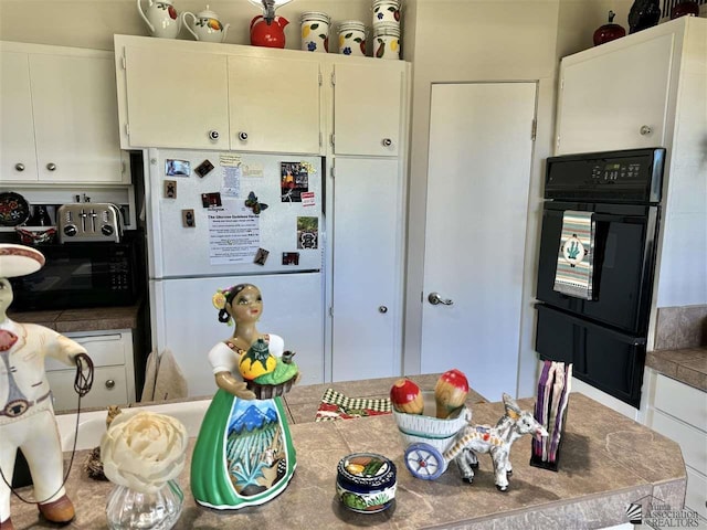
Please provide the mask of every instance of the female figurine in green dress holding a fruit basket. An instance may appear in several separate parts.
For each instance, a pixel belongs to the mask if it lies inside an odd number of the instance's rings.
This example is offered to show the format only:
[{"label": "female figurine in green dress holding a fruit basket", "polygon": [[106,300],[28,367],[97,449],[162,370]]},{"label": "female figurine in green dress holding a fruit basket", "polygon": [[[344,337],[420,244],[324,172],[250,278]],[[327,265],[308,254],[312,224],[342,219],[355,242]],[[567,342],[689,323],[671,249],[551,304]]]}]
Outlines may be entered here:
[{"label": "female figurine in green dress holding a fruit basket", "polygon": [[[251,284],[213,296],[233,335],[209,352],[217,390],[191,459],[191,491],[200,505],[239,509],[281,494],[295,470],[295,448],[282,395],[299,378],[284,341],[261,333],[261,292]],[[283,358],[283,353],[285,353]]]}]

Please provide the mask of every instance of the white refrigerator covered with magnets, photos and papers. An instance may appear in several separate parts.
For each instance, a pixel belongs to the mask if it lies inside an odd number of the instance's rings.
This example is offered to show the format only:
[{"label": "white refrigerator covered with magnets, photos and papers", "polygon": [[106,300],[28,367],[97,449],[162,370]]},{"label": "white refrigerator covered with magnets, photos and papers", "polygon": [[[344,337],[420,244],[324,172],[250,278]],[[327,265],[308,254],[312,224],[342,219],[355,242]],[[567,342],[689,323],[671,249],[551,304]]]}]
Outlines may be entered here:
[{"label": "white refrigerator covered with magnets, photos and papers", "polygon": [[219,288],[256,285],[261,332],[295,351],[302,384],[324,382],[324,159],[148,149],[145,204],[152,350],[171,350],[189,395],[215,391],[207,354],[233,328]]}]

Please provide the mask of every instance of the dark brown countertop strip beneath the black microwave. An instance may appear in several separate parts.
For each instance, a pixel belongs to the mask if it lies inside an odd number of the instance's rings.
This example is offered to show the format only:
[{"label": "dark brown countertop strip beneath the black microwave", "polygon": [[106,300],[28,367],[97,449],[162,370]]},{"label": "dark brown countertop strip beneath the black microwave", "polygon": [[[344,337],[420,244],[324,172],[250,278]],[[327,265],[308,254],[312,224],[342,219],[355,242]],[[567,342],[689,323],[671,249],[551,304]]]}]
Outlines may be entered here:
[{"label": "dark brown countertop strip beneath the black microwave", "polygon": [[15,322],[31,322],[60,333],[134,329],[138,324],[140,305],[122,307],[94,307],[50,311],[8,311]]}]

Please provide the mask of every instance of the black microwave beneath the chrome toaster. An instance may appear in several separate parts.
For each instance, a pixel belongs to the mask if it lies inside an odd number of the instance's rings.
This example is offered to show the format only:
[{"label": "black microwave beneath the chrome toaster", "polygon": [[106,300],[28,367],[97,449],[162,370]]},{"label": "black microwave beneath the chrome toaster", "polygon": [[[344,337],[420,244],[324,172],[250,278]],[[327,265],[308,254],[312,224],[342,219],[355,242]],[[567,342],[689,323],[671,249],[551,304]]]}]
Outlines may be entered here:
[{"label": "black microwave beneath the chrome toaster", "polygon": [[145,293],[145,237],[126,231],[119,243],[39,245],[44,266],[10,278],[12,310],[61,310],[136,304]]}]

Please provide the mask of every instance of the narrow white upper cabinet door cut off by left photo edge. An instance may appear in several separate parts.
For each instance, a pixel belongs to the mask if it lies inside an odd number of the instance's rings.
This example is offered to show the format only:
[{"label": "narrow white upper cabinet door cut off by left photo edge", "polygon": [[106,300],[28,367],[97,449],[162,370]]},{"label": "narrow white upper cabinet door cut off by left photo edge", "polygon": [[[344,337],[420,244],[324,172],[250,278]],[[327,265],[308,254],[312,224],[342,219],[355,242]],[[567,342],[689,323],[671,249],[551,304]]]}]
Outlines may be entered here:
[{"label": "narrow white upper cabinet door cut off by left photo edge", "polygon": [[28,54],[0,53],[0,181],[36,182]]}]

